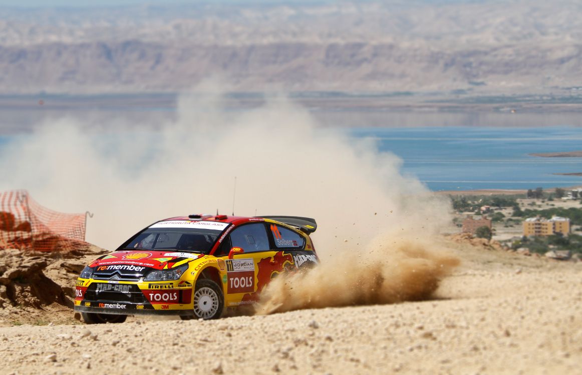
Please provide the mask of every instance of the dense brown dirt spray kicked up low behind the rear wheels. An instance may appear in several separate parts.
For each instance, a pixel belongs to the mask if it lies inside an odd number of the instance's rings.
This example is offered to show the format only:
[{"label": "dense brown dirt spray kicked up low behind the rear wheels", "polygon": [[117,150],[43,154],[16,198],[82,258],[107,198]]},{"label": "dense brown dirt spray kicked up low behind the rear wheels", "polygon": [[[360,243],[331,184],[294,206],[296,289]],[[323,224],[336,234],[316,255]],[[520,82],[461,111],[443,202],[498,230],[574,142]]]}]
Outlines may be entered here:
[{"label": "dense brown dirt spray kicked up low behind the rear wheels", "polygon": [[276,277],[257,313],[421,301],[458,264],[429,239],[382,235],[365,251],[342,252],[306,272]]}]

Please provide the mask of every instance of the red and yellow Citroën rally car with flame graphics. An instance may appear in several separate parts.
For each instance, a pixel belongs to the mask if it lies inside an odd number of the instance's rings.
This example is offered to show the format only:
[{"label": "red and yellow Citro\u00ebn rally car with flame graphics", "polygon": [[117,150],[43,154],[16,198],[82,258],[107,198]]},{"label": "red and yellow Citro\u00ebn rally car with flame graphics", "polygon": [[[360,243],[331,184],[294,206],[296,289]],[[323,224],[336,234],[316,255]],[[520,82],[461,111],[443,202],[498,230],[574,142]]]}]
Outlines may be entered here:
[{"label": "red and yellow Citro\u00ebn rally car with flame graphics", "polygon": [[189,215],[161,220],[87,265],[74,310],[86,323],[127,315],[216,319],[258,301],[276,275],[318,263],[314,219]]}]

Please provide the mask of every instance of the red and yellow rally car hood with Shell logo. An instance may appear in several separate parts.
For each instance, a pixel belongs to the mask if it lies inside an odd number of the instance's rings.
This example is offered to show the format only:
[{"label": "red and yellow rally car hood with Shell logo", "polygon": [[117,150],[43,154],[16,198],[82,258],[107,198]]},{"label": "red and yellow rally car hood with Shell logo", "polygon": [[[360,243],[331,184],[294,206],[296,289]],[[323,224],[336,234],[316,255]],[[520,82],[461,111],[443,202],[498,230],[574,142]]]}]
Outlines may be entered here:
[{"label": "red and yellow rally car hood with Shell logo", "polygon": [[169,269],[183,265],[204,254],[178,251],[123,250],[109,253],[89,264],[89,267],[109,265],[133,265],[153,269]]}]

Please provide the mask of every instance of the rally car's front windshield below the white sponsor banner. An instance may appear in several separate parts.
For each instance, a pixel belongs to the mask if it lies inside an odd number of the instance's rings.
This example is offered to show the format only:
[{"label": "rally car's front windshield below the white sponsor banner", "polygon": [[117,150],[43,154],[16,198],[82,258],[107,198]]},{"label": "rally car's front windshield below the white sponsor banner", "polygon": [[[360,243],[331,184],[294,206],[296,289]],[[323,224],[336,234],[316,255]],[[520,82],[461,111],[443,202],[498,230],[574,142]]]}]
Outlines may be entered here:
[{"label": "rally car's front windshield below the white sponsor banner", "polygon": [[125,248],[176,249],[208,253],[221,231],[189,228],[147,228],[132,238]]}]

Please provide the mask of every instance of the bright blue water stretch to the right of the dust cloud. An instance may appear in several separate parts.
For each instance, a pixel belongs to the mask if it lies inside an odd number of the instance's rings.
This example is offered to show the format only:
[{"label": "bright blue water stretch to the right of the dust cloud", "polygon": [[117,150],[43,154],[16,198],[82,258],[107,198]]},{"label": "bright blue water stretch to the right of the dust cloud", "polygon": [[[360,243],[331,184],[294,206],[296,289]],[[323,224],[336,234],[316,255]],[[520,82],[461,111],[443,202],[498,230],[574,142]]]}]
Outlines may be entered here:
[{"label": "bright blue water stretch to the right of the dust cloud", "polygon": [[535,189],[582,185],[582,158],[541,158],[529,153],[582,150],[582,128],[354,128],[381,151],[403,159],[402,172],[432,191]]}]

